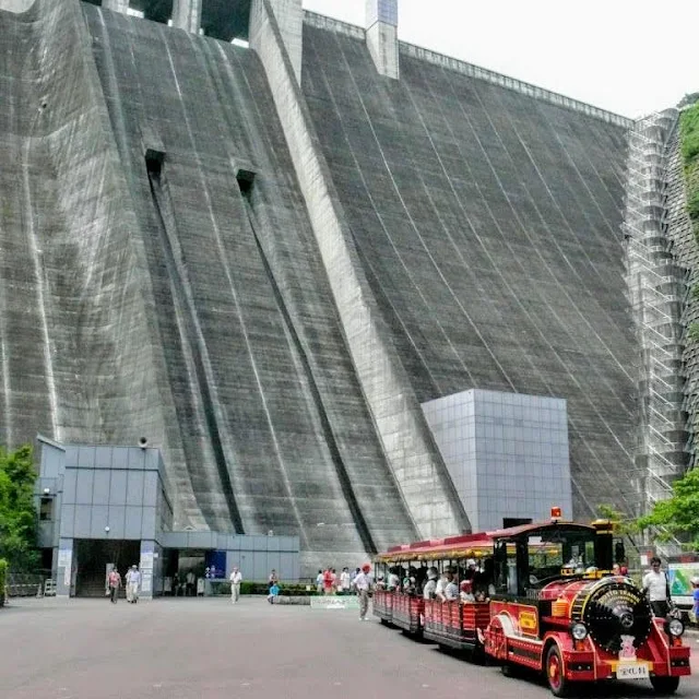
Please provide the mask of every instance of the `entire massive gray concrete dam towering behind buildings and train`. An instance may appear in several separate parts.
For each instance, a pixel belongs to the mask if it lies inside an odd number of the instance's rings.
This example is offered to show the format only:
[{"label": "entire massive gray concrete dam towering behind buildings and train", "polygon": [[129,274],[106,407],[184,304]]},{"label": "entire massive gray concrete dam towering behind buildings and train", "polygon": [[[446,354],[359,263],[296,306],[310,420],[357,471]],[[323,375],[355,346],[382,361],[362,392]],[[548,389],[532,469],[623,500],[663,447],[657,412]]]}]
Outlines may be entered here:
[{"label": "entire massive gray concrete dam towering behind buildings and train", "polygon": [[[366,8],[0,0],[0,442],[145,436],[174,530],[317,570],[481,526],[425,406],[494,392],[565,401],[576,518],[644,510],[695,459],[676,110]],[[474,473],[528,474],[498,455]]]}]

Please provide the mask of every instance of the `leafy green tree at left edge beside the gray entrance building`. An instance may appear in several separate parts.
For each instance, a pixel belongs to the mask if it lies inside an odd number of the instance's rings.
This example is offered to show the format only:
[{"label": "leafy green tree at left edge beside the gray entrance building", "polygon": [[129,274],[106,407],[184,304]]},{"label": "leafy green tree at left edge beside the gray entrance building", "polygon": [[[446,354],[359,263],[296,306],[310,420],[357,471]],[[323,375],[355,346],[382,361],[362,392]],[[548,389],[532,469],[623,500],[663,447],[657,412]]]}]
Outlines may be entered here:
[{"label": "leafy green tree at left edge beside the gray entrance building", "polygon": [[35,481],[32,447],[11,452],[0,447],[0,558],[11,570],[33,570],[38,564]]}]

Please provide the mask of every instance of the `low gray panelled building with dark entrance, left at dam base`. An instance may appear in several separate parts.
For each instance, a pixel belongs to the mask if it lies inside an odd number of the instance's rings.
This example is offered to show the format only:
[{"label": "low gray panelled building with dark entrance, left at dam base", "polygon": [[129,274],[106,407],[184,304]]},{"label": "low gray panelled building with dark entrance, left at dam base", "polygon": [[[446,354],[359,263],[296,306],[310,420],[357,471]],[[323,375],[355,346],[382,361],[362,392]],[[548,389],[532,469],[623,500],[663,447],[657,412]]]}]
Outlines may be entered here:
[{"label": "low gray panelled building with dark entrance, left at dam base", "polygon": [[[173,579],[191,570],[204,590],[275,570],[299,580],[298,536],[241,536],[173,528],[171,489],[163,458],[150,447],[58,445],[39,437],[36,483],[39,547],[50,552],[57,596],[103,595],[106,570],[141,570],[141,596],[173,594]],[[215,570],[217,568],[217,571]],[[213,570],[212,570],[213,569]]]}]

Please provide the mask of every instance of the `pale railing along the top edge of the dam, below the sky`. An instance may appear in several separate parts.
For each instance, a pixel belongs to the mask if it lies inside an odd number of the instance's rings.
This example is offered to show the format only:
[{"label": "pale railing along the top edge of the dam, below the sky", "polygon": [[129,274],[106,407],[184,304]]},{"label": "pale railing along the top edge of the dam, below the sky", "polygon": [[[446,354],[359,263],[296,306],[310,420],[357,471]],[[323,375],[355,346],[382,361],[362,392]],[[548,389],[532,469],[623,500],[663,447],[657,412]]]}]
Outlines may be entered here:
[{"label": "pale railing along the top edge of the dam, below the sky", "polygon": [[[320,29],[328,29],[330,32],[344,34],[346,36],[351,36],[362,40],[366,38],[366,32],[363,27],[357,26],[356,24],[341,22],[340,20],[334,20],[332,17],[328,17],[323,14],[318,14],[317,12],[311,12],[309,10],[304,11],[304,22]],[[470,78],[477,78],[494,85],[513,90],[514,92],[518,92],[522,95],[529,95],[530,97],[534,97],[536,99],[543,99],[544,102],[548,102],[559,107],[566,107],[567,109],[572,109],[573,111],[580,111],[584,115],[588,115],[589,117],[601,119],[602,121],[614,123],[616,126],[624,127],[625,129],[630,128],[635,122],[633,119],[629,119],[628,117],[623,117],[621,115],[614,114],[613,111],[607,111],[606,109],[594,107],[593,105],[580,102],[579,99],[573,99],[572,97],[567,97],[566,95],[561,95],[556,92],[552,92],[550,90],[545,90],[544,87],[537,87],[536,85],[532,85],[531,83],[524,82],[523,80],[510,78],[509,75],[497,73],[493,70],[488,70],[487,68],[481,68],[481,66],[475,66],[474,63],[469,63],[450,56],[445,56],[443,54],[433,51],[428,48],[423,48],[422,46],[416,46],[415,44],[399,42],[399,50],[402,54],[410,56],[411,58],[417,58],[436,66],[441,66],[442,68],[452,70],[457,73],[462,73],[464,75],[469,75]]]}]

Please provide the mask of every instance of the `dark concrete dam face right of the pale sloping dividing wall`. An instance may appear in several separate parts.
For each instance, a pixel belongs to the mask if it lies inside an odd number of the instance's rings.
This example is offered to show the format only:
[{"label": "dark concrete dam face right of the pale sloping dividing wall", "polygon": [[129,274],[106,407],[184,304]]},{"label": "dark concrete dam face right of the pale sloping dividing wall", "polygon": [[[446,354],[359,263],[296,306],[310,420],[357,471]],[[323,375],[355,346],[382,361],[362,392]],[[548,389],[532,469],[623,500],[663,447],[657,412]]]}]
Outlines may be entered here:
[{"label": "dark concrete dam face right of the pale sloping dividing wall", "polygon": [[420,402],[565,396],[577,513],[633,509],[636,340],[620,232],[626,130],[306,26],[304,93]]}]

